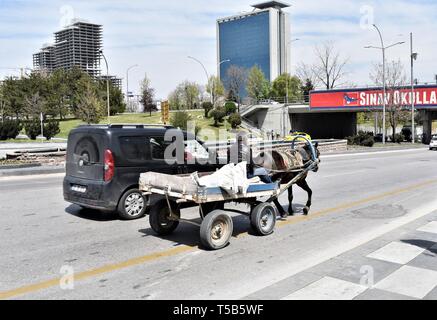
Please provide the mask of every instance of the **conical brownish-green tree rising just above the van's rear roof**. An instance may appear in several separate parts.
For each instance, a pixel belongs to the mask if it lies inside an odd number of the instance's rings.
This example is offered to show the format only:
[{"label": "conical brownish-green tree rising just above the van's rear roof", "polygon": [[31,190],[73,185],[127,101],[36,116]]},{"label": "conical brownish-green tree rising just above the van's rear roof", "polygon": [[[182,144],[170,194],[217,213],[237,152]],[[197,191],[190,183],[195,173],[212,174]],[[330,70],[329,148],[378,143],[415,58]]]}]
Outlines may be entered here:
[{"label": "conical brownish-green tree rising just above the van's rear roof", "polygon": [[99,99],[97,90],[91,83],[85,86],[86,89],[77,104],[75,116],[88,124],[99,123],[105,115],[105,105]]}]

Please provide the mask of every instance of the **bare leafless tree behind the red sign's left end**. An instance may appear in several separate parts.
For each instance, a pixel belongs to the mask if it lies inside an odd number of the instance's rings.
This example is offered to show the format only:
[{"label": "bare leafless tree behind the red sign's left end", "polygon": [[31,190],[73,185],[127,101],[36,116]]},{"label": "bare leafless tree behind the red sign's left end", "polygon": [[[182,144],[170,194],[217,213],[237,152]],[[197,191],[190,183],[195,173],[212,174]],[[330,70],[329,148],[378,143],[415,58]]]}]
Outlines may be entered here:
[{"label": "bare leafless tree behind the red sign's left end", "polygon": [[[312,66],[312,73],[327,90],[341,85],[340,81],[345,77],[345,67],[348,59],[340,56],[332,42],[325,42],[315,48],[317,62]],[[309,78],[311,80],[311,77]]]}]

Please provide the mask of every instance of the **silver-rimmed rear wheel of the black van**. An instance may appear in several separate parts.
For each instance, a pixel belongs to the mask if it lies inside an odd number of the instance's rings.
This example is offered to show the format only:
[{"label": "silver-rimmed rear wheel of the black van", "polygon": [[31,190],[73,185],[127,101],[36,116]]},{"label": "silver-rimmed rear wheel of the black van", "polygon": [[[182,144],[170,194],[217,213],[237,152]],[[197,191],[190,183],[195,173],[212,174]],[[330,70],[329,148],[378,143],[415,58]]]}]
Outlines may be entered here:
[{"label": "silver-rimmed rear wheel of the black van", "polygon": [[147,202],[138,189],[131,189],[121,197],[118,204],[118,215],[124,220],[135,220],[146,214]]}]

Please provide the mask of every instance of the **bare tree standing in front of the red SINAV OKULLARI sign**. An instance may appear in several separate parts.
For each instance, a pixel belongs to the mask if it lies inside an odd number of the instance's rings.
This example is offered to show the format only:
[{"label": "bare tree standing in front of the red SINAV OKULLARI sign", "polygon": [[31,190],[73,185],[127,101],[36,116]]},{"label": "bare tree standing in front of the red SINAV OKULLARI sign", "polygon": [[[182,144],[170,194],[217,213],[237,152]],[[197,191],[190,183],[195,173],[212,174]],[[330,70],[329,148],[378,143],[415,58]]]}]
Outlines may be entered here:
[{"label": "bare tree standing in front of the red SINAV OKULLARI sign", "polygon": [[[396,135],[396,127],[399,122],[408,121],[410,112],[406,110],[406,105],[402,104],[402,99],[399,94],[399,89],[407,83],[407,76],[404,67],[400,60],[391,61],[386,64],[386,117],[392,127],[393,140]],[[381,64],[374,65],[374,70],[370,74],[370,78],[376,85],[383,85],[383,66]],[[382,95],[381,95],[382,99]],[[382,101],[381,101],[382,104]],[[382,118],[382,116],[381,116]]]}]

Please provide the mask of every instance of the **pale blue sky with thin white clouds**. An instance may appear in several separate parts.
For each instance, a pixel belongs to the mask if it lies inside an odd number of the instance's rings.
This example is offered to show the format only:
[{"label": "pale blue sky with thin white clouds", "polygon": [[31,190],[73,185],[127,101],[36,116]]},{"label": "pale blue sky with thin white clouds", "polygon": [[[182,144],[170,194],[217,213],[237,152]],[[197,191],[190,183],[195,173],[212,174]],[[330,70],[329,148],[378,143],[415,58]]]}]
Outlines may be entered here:
[{"label": "pale blue sky with thin white clouds", "polygon": [[[53,33],[71,18],[102,24],[104,51],[110,73],[123,78],[126,70],[130,91],[138,93],[147,74],[164,99],[178,83],[189,80],[205,84],[206,76],[193,56],[216,72],[216,20],[252,11],[262,0],[0,0],[0,78],[19,75],[14,68],[31,68],[32,54],[53,42]],[[297,64],[315,60],[314,47],[333,42],[348,59],[345,81],[371,85],[372,66],[382,60],[371,27],[376,23],[386,45],[405,41],[387,50],[387,60],[400,59],[409,75],[410,32],[414,34],[415,77],[434,83],[437,74],[437,1],[435,0],[284,0],[291,4],[293,70]]]}]

